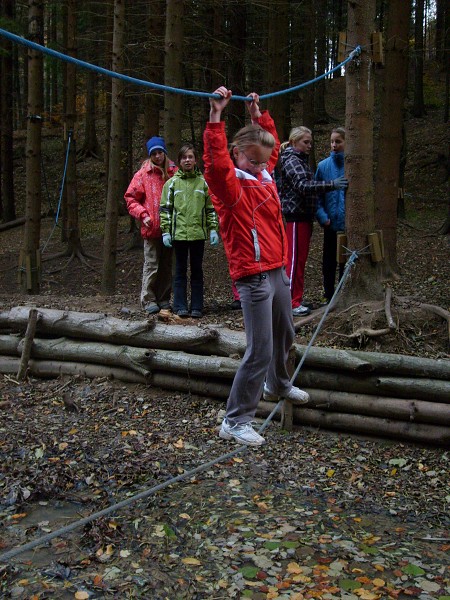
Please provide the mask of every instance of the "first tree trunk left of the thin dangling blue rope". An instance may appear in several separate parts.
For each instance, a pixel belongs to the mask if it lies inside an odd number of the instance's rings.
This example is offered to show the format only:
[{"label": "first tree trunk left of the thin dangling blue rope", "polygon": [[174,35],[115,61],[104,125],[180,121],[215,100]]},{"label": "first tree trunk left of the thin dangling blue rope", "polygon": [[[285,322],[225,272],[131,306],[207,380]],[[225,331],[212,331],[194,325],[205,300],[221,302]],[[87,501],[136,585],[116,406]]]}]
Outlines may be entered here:
[{"label": "first tree trunk left of the thin dangling blue rope", "polygon": [[[42,0],[29,0],[28,32],[31,40],[44,43],[44,10]],[[26,147],[26,204],[23,246],[19,258],[20,285],[23,293],[40,290],[41,234],[41,138],[43,109],[43,57],[28,50],[28,122]]]}]

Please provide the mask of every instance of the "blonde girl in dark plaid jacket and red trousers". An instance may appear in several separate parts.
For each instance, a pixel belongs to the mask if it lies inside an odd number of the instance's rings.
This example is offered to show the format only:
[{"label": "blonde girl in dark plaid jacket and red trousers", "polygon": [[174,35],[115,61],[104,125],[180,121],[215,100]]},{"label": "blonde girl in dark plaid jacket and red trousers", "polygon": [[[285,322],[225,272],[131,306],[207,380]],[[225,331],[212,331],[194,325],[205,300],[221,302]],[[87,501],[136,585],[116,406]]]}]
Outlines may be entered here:
[{"label": "blonde girl in dark plaid jacket and red trousers", "polygon": [[314,179],[314,173],[308,164],[311,146],[312,133],[307,127],[294,127],[289,135],[289,142],[281,146],[281,205],[286,219],[287,274],[291,280],[294,316],[304,316],[310,312],[309,308],[302,306],[302,299],[318,196],[348,187],[345,177],[330,181]]}]

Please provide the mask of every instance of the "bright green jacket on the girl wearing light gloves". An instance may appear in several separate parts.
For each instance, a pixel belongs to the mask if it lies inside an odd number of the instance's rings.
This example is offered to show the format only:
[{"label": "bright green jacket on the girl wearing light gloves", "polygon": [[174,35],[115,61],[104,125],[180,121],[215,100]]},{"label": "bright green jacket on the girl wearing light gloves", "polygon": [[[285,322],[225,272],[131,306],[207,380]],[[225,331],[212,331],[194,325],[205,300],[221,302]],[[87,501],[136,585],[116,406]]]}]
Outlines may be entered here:
[{"label": "bright green jacket on the girl wearing light gloves", "polygon": [[172,241],[206,240],[218,230],[216,211],[201,172],[179,169],[164,184],[161,196],[161,231]]}]

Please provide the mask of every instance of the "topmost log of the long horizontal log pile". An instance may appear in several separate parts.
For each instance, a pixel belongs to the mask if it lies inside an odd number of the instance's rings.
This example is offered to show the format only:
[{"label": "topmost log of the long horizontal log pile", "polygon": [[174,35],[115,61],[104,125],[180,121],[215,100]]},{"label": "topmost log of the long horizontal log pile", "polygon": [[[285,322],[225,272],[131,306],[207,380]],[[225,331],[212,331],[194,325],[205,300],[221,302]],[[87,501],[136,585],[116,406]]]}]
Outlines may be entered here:
[{"label": "topmost log of the long horizontal log pile", "polygon": [[[30,307],[14,307],[0,312],[0,328],[24,330]],[[161,324],[155,319],[126,321],[100,313],[79,313],[39,309],[38,332],[53,337],[66,336],[88,341],[127,344],[140,348],[179,350],[199,355],[242,356],[245,334],[225,327],[199,327]],[[298,360],[306,347],[295,346]],[[450,381],[450,360],[432,360],[376,352],[310,348],[305,366],[326,370],[392,373]]]}]

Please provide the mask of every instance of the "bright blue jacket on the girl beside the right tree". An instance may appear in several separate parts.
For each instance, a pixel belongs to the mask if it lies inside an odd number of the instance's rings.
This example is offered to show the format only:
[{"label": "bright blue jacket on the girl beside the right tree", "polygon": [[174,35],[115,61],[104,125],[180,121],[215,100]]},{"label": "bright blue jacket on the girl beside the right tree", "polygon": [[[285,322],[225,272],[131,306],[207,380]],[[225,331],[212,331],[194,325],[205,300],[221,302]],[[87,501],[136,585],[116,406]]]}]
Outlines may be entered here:
[{"label": "bright blue jacket on the girl beside the right tree", "polygon": [[[330,156],[320,161],[317,166],[316,179],[330,181],[344,175],[344,153],[331,152]],[[345,191],[332,190],[319,196],[316,218],[322,227],[330,220],[333,231],[345,230]]]}]

